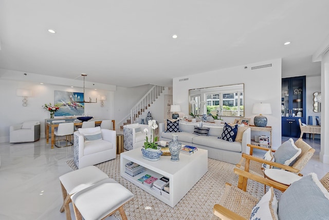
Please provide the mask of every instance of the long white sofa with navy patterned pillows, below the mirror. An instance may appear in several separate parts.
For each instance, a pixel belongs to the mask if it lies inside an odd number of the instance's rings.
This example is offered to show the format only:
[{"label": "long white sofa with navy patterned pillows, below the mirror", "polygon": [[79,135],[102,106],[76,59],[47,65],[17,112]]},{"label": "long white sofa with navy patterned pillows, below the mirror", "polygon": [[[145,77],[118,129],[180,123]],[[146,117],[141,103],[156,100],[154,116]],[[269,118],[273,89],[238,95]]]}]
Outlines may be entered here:
[{"label": "long white sofa with navy patterned pillows, below the mirror", "polygon": [[[194,126],[209,127],[209,136],[193,134]],[[181,144],[195,146],[208,150],[208,157],[224,162],[236,164],[240,161],[242,153],[249,154],[250,128],[248,127],[242,134],[242,140],[229,142],[218,138],[223,132],[224,125],[207,122],[180,122],[178,141]],[[166,132],[165,123],[159,123],[160,140],[171,141],[173,132]]]}]

